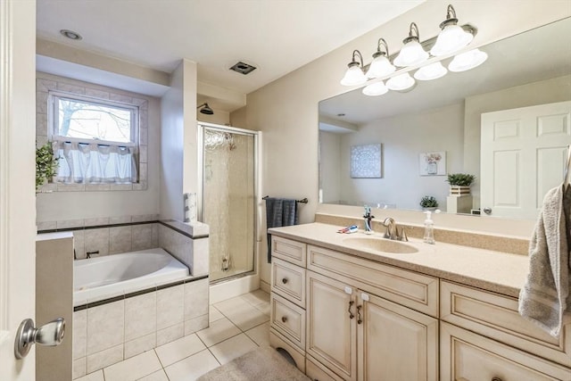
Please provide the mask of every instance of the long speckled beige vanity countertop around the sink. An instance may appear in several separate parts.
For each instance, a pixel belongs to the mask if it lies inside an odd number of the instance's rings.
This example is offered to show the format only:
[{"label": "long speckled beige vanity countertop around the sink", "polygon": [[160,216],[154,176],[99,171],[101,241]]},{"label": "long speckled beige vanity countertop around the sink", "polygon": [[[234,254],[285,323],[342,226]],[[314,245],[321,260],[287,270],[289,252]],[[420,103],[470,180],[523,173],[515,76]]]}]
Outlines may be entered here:
[{"label": "long speckled beige vanity countertop around the sink", "polygon": [[405,244],[416,247],[418,253],[384,253],[357,248],[343,240],[365,236],[382,238],[383,234],[365,235],[362,231],[339,234],[336,233],[339,228],[343,227],[314,222],[270,228],[268,232],[516,298],[520,288],[524,286],[529,269],[529,258],[526,255],[494,252],[458,244],[425,244],[417,238],[410,238]]}]

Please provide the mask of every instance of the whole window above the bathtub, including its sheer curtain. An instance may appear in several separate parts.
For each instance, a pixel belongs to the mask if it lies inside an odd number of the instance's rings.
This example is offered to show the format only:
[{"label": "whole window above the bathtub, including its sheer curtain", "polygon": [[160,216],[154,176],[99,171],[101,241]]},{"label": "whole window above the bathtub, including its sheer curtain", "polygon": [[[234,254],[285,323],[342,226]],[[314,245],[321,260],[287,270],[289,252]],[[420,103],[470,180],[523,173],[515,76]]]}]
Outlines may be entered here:
[{"label": "whole window above the bathtub, including its sheer curtain", "polygon": [[56,92],[48,99],[50,135],[60,157],[57,182],[137,183],[136,105]]}]

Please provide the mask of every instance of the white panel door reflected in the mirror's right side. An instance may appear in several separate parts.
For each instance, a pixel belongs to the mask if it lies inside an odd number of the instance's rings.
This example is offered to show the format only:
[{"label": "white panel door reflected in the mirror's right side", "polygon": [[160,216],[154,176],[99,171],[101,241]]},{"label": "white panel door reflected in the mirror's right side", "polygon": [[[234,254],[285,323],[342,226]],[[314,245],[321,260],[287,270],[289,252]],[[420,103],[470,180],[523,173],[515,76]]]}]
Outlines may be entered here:
[{"label": "white panel door reflected in the mirror's right side", "polygon": [[482,215],[535,219],[563,181],[571,102],[483,113],[481,128]]}]

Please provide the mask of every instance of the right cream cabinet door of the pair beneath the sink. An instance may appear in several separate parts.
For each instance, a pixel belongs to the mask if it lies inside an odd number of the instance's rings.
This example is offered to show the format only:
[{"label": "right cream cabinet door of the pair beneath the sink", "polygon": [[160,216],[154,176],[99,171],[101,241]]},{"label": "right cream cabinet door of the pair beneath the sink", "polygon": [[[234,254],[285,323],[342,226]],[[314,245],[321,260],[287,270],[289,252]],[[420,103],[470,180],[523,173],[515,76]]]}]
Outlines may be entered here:
[{"label": "right cream cabinet door of the pair beneath the sink", "polygon": [[358,291],[360,381],[438,379],[438,320]]}]

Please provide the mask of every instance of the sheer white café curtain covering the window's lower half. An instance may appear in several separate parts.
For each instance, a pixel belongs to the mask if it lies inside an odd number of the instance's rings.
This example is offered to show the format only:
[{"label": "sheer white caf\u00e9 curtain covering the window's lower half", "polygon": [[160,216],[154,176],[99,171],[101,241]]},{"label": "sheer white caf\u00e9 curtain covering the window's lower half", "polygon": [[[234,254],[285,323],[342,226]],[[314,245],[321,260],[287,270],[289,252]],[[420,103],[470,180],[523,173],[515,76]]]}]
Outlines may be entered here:
[{"label": "sheer white caf\u00e9 curtain covering the window's lower half", "polygon": [[137,183],[137,147],[55,141],[60,158],[56,181],[63,183]]}]

